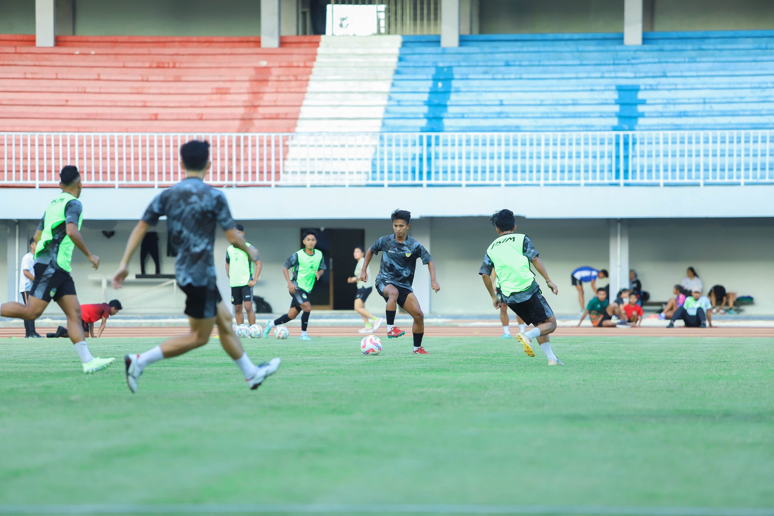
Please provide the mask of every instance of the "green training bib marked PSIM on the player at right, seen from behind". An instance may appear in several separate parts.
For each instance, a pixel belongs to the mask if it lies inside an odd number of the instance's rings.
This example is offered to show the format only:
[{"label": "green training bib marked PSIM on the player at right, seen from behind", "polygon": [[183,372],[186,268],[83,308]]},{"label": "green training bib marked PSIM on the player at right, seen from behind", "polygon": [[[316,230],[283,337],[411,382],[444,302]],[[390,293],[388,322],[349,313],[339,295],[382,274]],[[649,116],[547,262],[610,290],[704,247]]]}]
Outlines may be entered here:
[{"label": "green training bib marked PSIM on the player at right, seen from behind", "polygon": [[529,289],[535,279],[529,260],[524,255],[524,237],[519,233],[504,234],[497,237],[486,251],[495,265],[500,290],[506,296]]}]

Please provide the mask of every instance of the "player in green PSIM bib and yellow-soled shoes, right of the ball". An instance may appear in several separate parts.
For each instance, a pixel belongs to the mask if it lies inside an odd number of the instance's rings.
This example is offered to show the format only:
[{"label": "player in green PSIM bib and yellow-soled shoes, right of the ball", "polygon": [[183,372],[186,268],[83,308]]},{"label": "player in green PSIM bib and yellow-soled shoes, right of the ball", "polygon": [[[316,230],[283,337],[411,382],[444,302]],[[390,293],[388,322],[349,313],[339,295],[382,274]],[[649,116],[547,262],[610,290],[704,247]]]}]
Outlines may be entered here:
[{"label": "player in green PSIM bib and yellow-soled shoes, right of the ball", "polygon": [[[554,295],[559,293],[557,285],[548,277],[546,267],[529,237],[516,233],[516,220],[511,210],[499,210],[489,220],[498,237],[487,248],[478,274],[484,279],[492,304],[495,308],[500,308],[502,303],[505,303],[524,323],[535,326],[532,330],[516,334],[516,340],[519,340],[529,357],[535,356],[532,340],[537,339],[540,349],[548,359],[548,365],[564,365],[553,354],[549,337],[550,333],[557,329],[557,318],[540,292],[535,273],[529,265],[535,265]],[[493,268],[498,278],[496,292],[490,277]]]}]

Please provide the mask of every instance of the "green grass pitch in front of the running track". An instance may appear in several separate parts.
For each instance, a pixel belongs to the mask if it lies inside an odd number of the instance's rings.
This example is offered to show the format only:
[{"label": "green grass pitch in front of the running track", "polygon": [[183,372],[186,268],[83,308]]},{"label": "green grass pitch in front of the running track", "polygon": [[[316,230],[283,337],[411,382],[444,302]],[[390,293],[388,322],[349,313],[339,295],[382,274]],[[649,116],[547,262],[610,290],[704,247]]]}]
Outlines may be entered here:
[{"label": "green grass pitch in front of the running track", "polygon": [[243,340],[283,365],[249,391],[217,340],[86,375],[69,341],[0,340],[0,506],[551,504],[774,507],[774,341],[557,337]]}]

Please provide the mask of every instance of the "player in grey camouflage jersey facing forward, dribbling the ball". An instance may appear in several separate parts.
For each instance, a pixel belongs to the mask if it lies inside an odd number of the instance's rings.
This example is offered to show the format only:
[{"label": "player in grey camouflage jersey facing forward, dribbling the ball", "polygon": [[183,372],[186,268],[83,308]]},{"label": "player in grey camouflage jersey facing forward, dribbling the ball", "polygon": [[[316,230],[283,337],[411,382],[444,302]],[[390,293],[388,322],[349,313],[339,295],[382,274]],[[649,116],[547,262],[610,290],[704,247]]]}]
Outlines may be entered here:
[{"label": "player in grey camouflage jersey facing forward, dribbling the ball", "polygon": [[368,281],[368,264],[374,255],[384,251],[382,264],[379,265],[379,273],[376,275],[376,292],[387,302],[385,310],[387,314],[387,337],[395,339],[402,336],[405,331],[395,326],[395,314],[398,306],[406,310],[413,317],[412,328],[414,337],[414,353],[429,354],[422,346],[422,337],[425,334],[425,315],[422,313],[420,302],[416,299],[411,288],[414,282],[416,260],[421,259],[430,271],[430,285],[435,292],[440,290],[440,285],[435,279],[435,263],[430,253],[422,244],[409,237],[411,227],[411,213],[406,210],[395,210],[390,215],[392,219],[392,231],[394,234],[379,237],[368,249],[360,272],[360,281]]}]

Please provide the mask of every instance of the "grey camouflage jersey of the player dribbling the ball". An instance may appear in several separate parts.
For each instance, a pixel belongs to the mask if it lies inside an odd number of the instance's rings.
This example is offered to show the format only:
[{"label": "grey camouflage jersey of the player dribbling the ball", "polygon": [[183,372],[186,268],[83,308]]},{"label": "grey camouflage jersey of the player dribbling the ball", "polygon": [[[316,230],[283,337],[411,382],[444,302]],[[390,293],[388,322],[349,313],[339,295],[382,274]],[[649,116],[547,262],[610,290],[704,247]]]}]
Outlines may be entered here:
[{"label": "grey camouflage jersey of the player dribbling the ball", "polygon": [[406,236],[406,241],[402,244],[396,240],[394,234],[380,237],[371,246],[371,251],[375,255],[378,255],[379,251],[384,251],[376,282],[392,283],[412,292],[416,260],[421,258],[424,265],[433,261],[424,246],[409,236]]}]

